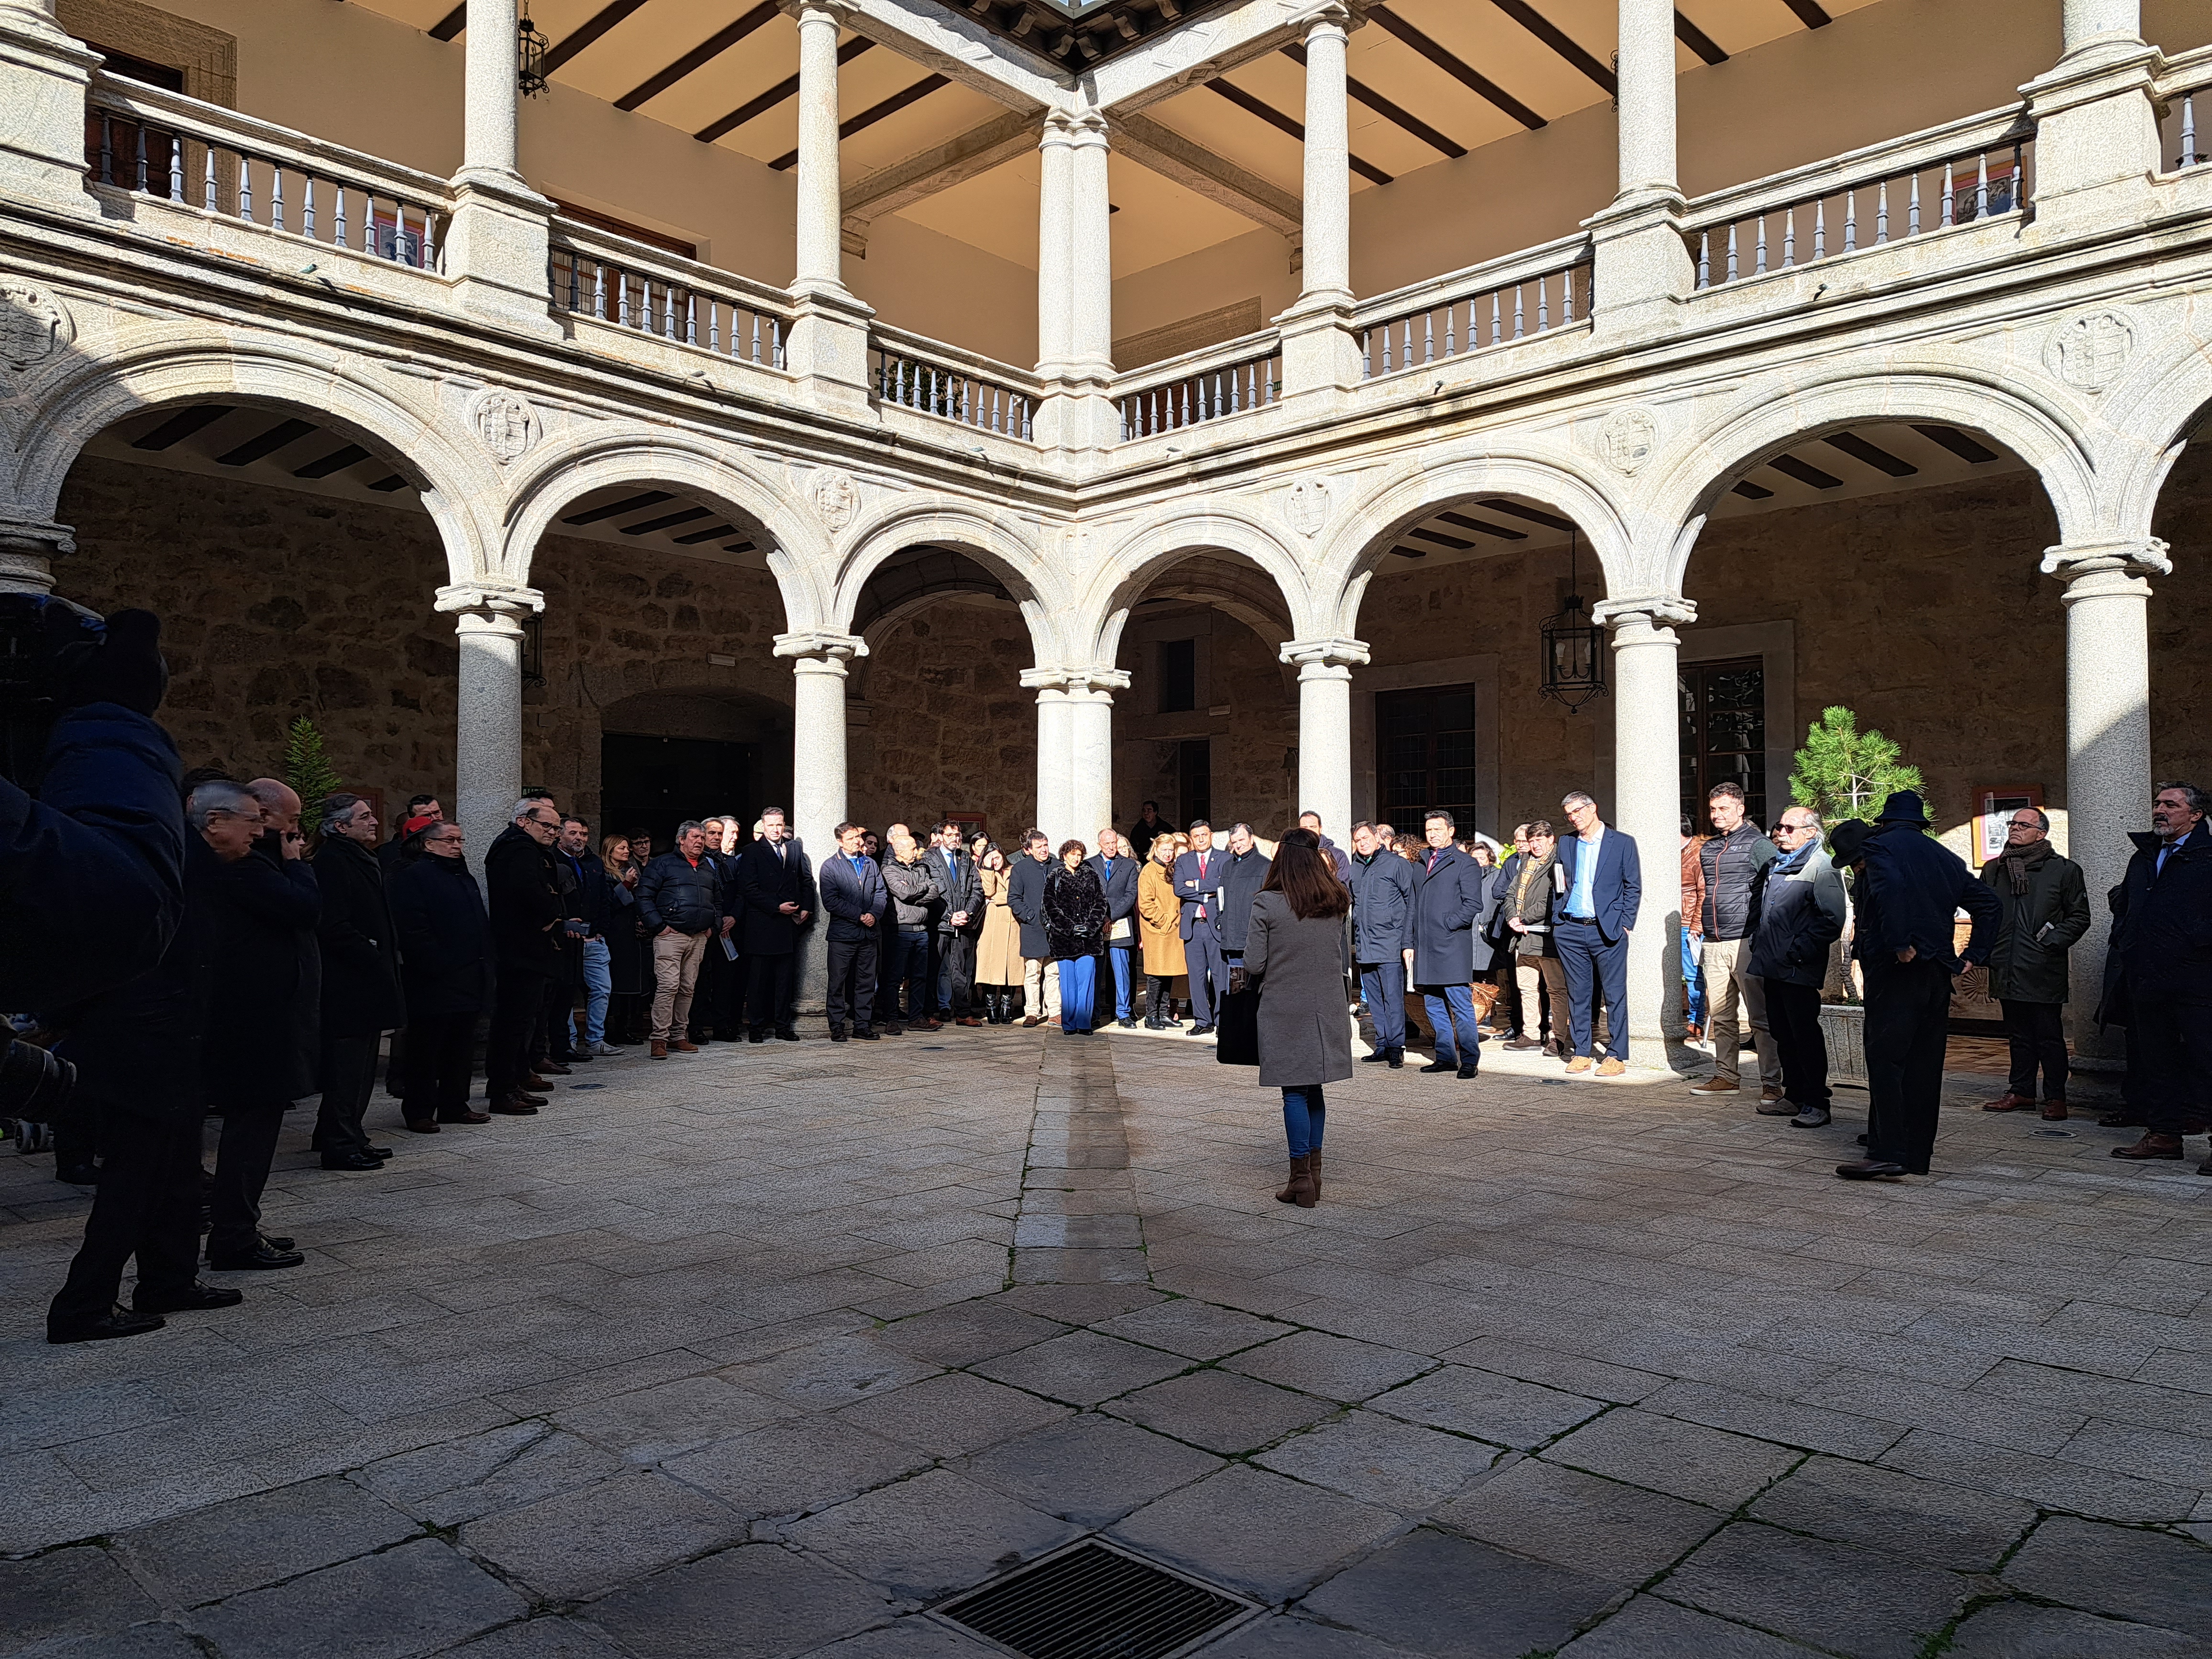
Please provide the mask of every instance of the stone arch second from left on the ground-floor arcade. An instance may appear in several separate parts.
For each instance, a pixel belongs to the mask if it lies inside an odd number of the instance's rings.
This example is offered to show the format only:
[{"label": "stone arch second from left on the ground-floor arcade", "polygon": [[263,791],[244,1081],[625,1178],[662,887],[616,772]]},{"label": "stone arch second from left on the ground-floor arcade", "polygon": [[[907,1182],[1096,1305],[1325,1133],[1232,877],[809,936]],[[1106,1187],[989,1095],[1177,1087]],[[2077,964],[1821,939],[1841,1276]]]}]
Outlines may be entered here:
[{"label": "stone arch second from left on the ground-floor arcade", "polygon": [[827,538],[774,482],[739,465],[730,449],[664,429],[591,429],[573,442],[546,442],[529,456],[507,498],[500,573],[526,584],[538,544],[560,513],[595,489],[664,484],[759,524],[768,535],[768,571],[783,595],[785,630],[823,626],[827,606],[812,571]]}]

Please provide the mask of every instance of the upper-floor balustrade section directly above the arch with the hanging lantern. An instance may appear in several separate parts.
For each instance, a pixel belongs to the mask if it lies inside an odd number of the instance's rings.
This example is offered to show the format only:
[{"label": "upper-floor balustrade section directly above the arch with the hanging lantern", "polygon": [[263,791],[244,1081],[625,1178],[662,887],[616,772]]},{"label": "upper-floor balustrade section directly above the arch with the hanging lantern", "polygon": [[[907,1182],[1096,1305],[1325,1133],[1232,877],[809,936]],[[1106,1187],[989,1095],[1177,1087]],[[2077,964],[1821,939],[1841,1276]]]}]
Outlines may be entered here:
[{"label": "upper-floor balustrade section directly above the arch with the hanging lantern", "polygon": [[1360,307],[1363,378],[1444,363],[1590,319],[1584,237],[1453,272]]}]

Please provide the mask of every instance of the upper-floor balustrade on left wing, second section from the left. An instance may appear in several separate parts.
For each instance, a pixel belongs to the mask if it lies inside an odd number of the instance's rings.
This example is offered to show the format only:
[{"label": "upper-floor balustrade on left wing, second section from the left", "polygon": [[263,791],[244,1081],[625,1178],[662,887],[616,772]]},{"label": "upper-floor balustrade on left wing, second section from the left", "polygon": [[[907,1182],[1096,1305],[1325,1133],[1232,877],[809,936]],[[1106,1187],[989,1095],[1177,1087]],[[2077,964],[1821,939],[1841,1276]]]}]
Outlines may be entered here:
[{"label": "upper-floor balustrade on left wing, second section from the left", "polygon": [[761,367],[783,367],[790,323],[768,285],[664,254],[628,237],[553,221],[546,288],[555,312],[637,330]]}]

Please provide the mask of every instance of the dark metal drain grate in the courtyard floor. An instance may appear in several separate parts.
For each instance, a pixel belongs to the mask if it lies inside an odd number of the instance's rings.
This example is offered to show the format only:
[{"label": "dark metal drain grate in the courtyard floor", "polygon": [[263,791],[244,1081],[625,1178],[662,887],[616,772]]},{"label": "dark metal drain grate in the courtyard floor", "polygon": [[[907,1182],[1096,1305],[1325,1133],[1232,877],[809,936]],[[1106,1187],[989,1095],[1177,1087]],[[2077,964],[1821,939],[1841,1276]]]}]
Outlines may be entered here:
[{"label": "dark metal drain grate in the courtyard floor", "polygon": [[1250,1608],[1104,1544],[1077,1544],[942,1608],[1026,1659],[1166,1659]]}]

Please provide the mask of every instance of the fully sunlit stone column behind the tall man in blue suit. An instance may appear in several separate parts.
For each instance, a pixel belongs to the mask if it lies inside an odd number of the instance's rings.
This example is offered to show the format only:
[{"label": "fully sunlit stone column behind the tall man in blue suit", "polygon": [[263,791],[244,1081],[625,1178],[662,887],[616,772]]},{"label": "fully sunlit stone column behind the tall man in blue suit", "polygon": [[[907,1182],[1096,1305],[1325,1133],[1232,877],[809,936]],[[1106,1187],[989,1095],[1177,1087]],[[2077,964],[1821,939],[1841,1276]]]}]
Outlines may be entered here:
[{"label": "fully sunlit stone column behind the tall man in blue suit", "polygon": [[[1613,794],[1606,823],[1637,843],[1644,907],[1628,936],[1628,1057],[1668,1064],[1681,1033],[1681,688],[1672,624],[1694,622],[1679,595],[1604,599],[1593,613],[1613,628]],[[1562,830],[1562,834],[1571,834]]]}]

